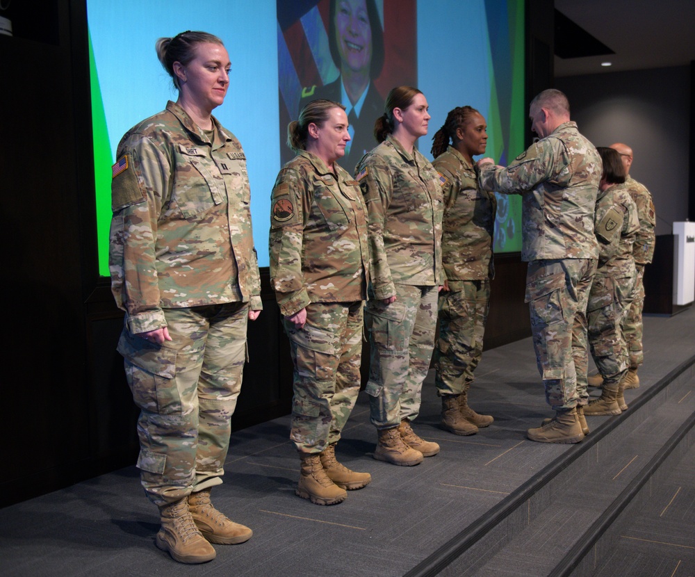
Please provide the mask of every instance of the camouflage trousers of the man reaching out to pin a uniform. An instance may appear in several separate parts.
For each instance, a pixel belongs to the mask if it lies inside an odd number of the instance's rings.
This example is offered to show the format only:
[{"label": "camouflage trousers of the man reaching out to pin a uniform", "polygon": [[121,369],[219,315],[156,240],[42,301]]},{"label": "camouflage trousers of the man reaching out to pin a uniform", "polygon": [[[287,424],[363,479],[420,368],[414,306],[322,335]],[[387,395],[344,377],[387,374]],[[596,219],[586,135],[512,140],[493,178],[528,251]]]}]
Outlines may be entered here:
[{"label": "camouflage trousers of the man reaching out to pin a uniform", "polygon": [[[533,346],[546,401],[555,411],[588,402],[578,369],[586,373],[587,301],[596,273],[594,259],[553,259],[528,263],[526,297],[531,316]],[[582,338],[578,338],[581,335]]]}]

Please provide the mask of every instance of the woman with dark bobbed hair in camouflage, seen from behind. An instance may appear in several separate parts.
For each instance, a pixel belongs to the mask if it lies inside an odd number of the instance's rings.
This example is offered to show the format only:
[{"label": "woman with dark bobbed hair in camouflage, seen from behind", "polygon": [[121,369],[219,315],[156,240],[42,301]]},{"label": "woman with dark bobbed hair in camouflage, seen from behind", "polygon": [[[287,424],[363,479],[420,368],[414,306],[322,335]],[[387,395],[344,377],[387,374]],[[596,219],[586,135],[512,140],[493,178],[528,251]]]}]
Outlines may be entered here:
[{"label": "woman with dark bobbed hair in camouflage, seen from behind", "polygon": [[[603,163],[596,203],[599,254],[589,292],[587,321],[591,355],[603,375],[603,391],[600,398],[584,407],[584,414],[617,415],[628,408],[621,384],[628,371],[628,348],[621,325],[632,302],[637,278],[632,244],[639,230],[639,220],[637,206],[625,183],[620,155],[605,147],[599,147],[598,153]],[[585,374],[586,368],[582,375]]]}]

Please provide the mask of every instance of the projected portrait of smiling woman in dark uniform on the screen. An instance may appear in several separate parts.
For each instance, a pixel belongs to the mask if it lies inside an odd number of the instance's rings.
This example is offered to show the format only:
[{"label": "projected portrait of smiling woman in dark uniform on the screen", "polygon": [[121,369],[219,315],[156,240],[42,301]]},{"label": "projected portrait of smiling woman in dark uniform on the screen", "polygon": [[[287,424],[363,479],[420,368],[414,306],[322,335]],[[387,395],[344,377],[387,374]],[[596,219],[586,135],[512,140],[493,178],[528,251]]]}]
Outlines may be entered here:
[{"label": "projected portrait of smiling woman in dark uniform on the screen", "polygon": [[373,80],[384,65],[384,36],[374,0],[331,0],[328,42],[338,79],[326,86],[305,88],[300,106],[324,98],[343,103],[352,140],[338,161],[352,172],[372,149],[374,119],[384,110],[384,99]]}]

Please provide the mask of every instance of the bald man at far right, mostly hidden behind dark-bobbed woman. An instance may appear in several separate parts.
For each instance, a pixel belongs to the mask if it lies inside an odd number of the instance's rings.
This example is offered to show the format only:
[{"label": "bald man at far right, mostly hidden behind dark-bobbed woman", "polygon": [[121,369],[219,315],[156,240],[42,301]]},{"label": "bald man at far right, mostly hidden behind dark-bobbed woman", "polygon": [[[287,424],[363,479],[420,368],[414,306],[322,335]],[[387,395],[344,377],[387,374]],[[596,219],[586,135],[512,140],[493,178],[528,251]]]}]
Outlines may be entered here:
[{"label": "bald man at far right, mostly hidden behind dark-bobbed woman", "polygon": [[630,355],[630,368],[625,377],[624,385],[626,389],[636,389],[639,387],[639,377],[637,369],[644,362],[642,353],[642,309],[644,308],[644,267],[651,263],[654,257],[654,245],[656,242],[655,226],[656,212],[651,194],[644,184],[640,184],[630,176],[632,166],[632,149],[628,145],[615,143],[610,146],[619,154],[628,179],[626,185],[632,200],[637,205],[637,216],[639,217],[639,231],[635,238],[635,245],[632,247],[632,257],[637,266],[637,282],[635,284],[635,295],[628,309],[627,318],[623,327],[623,333],[628,341],[628,352]]}]

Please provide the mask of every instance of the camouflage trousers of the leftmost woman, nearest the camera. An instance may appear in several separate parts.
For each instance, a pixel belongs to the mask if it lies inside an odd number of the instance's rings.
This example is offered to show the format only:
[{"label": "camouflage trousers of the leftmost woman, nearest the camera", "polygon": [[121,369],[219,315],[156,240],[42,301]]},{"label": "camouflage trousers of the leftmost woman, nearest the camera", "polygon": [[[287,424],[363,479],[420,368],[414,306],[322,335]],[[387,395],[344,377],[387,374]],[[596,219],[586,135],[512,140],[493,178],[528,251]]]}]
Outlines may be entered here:
[{"label": "camouflage trousers of the leftmost woman, nearest the camera", "polygon": [[247,302],[164,309],[172,341],[124,328],[118,352],[140,407],[138,469],[156,505],[220,485],[246,360]]}]

